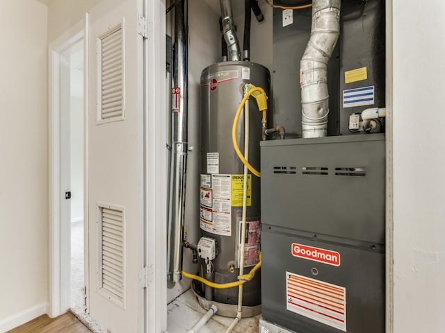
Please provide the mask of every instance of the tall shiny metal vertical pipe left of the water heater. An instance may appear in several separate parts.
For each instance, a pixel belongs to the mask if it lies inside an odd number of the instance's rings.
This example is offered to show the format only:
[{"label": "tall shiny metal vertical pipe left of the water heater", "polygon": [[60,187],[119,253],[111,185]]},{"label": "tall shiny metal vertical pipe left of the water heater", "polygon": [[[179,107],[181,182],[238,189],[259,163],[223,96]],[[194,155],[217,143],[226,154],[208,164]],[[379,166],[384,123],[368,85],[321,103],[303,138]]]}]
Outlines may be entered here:
[{"label": "tall shiny metal vertical pipe left of the water heater", "polygon": [[179,282],[182,271],[182,237],[187,164],[187,61],[188,0],[180,0],[173,12],[172,155],[168,201],[168,280]]}]

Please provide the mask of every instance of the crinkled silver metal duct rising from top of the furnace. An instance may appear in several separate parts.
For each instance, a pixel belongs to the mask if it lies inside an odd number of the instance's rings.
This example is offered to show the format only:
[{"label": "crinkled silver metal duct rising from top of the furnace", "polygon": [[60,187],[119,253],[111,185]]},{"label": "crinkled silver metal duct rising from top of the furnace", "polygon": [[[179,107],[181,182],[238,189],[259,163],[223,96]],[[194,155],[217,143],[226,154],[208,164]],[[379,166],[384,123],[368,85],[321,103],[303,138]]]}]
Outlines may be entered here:
[{"label": "crinkled silver metal duct rising from top of the furnace", "polygon": [[311,37],[300,62],[302,137],[327,135],[327,62],[339,35],[340,0],[314,0]]}]

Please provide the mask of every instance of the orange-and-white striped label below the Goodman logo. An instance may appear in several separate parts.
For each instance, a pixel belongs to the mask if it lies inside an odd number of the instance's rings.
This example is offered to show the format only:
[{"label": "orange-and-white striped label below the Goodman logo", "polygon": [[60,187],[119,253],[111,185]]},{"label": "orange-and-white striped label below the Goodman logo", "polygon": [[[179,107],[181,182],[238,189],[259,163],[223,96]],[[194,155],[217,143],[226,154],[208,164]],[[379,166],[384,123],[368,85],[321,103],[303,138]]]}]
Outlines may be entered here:
[{"label": "orange-and-white striped label below the Goodman logo", "polygon": [[286,272],[286,309],[346,332],[346,288]]}]

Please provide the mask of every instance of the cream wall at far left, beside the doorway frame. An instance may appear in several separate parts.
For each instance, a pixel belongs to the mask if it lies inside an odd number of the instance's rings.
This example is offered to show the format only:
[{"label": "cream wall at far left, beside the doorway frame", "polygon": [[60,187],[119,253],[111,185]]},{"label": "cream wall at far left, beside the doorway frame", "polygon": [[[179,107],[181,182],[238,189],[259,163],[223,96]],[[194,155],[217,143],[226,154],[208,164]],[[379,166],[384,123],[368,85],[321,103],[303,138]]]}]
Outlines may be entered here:
[{"label": "cream wall at far left, beside the doorway frame", "polygon": [[[0,332],[48,301],[47,7],[0,0]],[[10,327],[9,327],[10,328]]]}]

